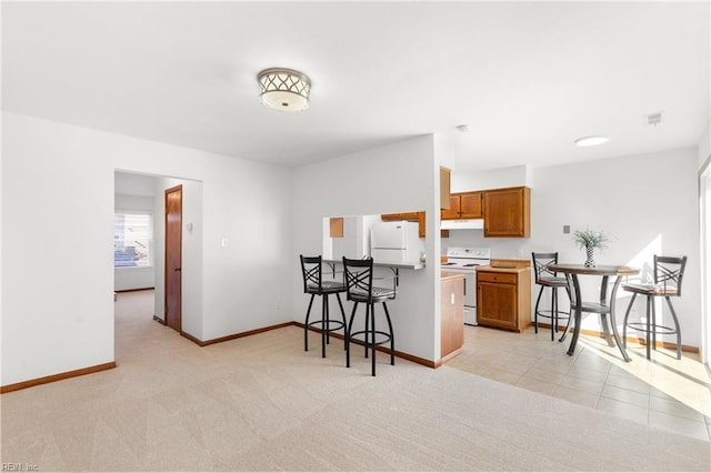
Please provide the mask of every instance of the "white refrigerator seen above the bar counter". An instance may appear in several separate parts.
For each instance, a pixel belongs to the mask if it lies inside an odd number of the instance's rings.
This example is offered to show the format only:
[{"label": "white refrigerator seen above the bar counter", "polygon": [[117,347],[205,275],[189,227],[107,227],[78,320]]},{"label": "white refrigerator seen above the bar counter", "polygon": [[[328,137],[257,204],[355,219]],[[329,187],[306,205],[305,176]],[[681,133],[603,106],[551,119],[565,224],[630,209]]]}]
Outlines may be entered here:
[{"label": "white refrigerator seen above the bar counter", "polygon": [[422,254],[418,222],[373,222],[370,255],[377,263],[419,262]]}]

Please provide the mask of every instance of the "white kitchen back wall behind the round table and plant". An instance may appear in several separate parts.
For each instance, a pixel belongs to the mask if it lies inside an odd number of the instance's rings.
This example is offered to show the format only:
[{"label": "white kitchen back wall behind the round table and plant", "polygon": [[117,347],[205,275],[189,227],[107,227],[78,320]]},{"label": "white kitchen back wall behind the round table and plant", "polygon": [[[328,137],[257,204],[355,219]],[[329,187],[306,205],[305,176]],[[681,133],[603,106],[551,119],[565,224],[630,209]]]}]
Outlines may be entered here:
[{"label": "white kitchen back wall behind the round table and plant", "polygon": [[[609,249],[597,256],[600,264],[622,263],[642,268],[651,264],[654,253],[685,254],[689,262],[683,295],[673,300],[673,304],[682,326],[682,342],[700,346],[695,152],[690,148],[533,169],[530,172],[530,239],[484,239],[481,230],[454,230],[449,239],[442,241],[442,249],[449,245],[490,246],[494,258],[524,259],[530,259],[532,251],[558,251],[561,262],[582,263],[584,251],[577,248],[570,234],[562,232],[563,225],[569,224],[571,232],[590,228],[612,236]],[[491,189],[493,185],[482,188]],[[590,278],[583,282],[583,296],[594,300],[598,281]],[[532,305],[538,289],[533,285]],[[621,322],[629,298],[622,291],[618,295]],[[562,305],[561,302],[561,309]],[[635,303],[631,316],[639,316],[638,312],[643,310],[640,302]],[[599,330],[598,318],[589,315],[583,326]]]}]

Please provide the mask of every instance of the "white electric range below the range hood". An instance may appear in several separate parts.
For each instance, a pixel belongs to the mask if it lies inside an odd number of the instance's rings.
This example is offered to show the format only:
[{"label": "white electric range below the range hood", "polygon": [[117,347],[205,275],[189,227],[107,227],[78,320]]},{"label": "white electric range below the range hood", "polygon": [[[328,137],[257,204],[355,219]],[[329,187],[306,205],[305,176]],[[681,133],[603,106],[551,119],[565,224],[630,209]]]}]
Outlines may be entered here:
[{"label": "white electric range below the range hood", "polygon": [[447,249],[447,262],[442,271],[464,274],[464,323],[477,325],[477,266],[491,264],[491,249],[460,248]]}]

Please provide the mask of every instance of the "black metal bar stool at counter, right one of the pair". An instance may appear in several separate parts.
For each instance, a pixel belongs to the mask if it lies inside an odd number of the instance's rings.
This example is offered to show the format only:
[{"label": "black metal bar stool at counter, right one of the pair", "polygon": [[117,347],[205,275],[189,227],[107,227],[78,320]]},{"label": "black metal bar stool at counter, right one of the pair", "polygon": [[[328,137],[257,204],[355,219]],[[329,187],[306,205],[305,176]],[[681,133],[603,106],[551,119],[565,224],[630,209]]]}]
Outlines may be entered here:
[{"label": "black metal bar stool at counter, right one of the pair", "polygon": [[[394,282],[392,289],[373,286],[373,259],[351,260],[343,258],[343,278],[346,280],[346,294],[349,301],[353,301],[353,311],[346,331],[346,366],[351,365],[351,340],[362,343],[368,358],[368,348],[371,351],[371,374],[375,375],[375,351],[377,346],[390,342],[390,364],[395,364],[395,345],[392,322],[388,312],[387,301],[395,299]],[[359,303],[365,304],[365,329],[353,332],[353,319]],[[388,322],[388,332],[375,329],[375,303],[382,303]],[[363,335],[363,340],[354,339]],[[380,336],[380,340],[377,338]]]}]

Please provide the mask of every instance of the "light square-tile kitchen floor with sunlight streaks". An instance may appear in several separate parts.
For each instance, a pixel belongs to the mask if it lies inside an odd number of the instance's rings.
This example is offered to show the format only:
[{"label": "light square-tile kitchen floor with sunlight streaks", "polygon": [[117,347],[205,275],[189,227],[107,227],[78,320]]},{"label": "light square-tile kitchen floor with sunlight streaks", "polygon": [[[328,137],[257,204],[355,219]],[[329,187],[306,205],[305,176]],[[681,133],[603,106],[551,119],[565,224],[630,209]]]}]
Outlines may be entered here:
[{"label": "light square-tile kitchen floor with sunlight streaks", "polygon": [[581,335],[574,356],[550,329],[511,333],[464,325],[464,351],[448,366],[564,399],[650,426],[711,440],[711,376],[695,353],[629,344],[632,362],[603,339]]}]

